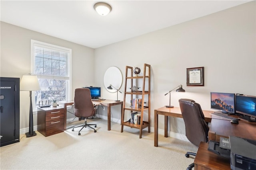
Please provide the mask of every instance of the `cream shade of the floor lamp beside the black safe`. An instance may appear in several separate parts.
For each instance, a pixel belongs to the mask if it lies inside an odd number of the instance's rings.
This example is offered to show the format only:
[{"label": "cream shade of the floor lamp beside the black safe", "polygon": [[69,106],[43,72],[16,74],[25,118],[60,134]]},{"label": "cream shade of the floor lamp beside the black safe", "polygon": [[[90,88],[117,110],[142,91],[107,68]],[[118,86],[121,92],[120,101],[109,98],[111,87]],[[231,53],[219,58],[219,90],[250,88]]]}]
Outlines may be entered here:
[{"label": "cream shade of the floor lamp beside the black safe", "polygon": [[37,76],[32,74],[23,75],[20,81],[20,90],[24,90],[24,91],[41,90]]}]

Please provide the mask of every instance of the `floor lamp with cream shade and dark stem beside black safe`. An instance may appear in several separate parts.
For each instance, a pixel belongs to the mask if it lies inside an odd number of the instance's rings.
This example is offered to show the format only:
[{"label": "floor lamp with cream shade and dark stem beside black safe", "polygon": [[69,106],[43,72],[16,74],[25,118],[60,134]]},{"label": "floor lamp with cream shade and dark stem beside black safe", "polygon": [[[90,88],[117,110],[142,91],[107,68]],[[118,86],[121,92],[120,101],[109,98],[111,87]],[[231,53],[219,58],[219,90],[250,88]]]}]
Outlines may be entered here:
[{"label": "floor lamp with cream shade and dark stem beside black safe", "polygon": [[25,134],[26,134],[26,137],[32,137],[36,135],[36,132],[33,129],[34,125],[33,125],[32,91],[41,90],[37,76],[32,74],[23,75],[20,81],[20,90],[29,91],[29,95],[30,95],[29,131]]}]

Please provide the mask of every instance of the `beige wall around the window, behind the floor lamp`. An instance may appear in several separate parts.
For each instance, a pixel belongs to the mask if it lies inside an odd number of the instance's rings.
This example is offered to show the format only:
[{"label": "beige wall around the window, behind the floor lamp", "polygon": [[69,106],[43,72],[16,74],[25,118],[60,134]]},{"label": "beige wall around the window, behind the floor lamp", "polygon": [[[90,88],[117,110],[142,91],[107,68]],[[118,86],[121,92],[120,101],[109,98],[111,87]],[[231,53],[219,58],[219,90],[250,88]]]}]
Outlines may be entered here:
[{"label": "beige wall around the window, behind the floor lamp", "polygon": [[[74,89],[94,84],[94,49],[1,22],[0,76],[22,78],[30,73],[30,40],[72,49],[72,94]],[[20,129],[28,128],[29,92],[20,91]],[[37,115],[34,114],[34,125]]]}]

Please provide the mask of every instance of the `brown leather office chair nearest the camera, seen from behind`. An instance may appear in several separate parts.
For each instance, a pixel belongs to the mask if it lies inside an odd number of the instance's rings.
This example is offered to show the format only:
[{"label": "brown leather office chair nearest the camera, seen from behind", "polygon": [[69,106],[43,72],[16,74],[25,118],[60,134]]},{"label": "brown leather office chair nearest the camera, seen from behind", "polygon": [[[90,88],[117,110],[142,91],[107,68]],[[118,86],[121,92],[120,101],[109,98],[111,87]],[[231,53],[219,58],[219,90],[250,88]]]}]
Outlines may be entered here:
[{"label": "brown leather office chair nearest the camera, seen from behind", "polygon": [[[208,142],[209,127],[204,121],[204,113],[200,104],[190,99],[180,99],[180,110],[185,122],[186,137],[188,140],[199,147],[201,141]],[[187,152],[185,156],[189,158],[190,155],[196,156],[196,153]],[[191,170],[194,163],[190,164],[187,170]]]}]

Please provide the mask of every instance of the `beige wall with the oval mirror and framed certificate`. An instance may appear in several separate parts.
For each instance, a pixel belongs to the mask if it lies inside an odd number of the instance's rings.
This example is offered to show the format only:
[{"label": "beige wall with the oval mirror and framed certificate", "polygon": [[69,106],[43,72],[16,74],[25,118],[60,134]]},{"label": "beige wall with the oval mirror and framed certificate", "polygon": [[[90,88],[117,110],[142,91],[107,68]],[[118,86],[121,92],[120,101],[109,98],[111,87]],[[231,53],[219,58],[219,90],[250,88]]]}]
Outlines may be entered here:
[{"label": "beige wall with the oval mirror and framed certificate", "polygon": [[[254,1],[98,48],[95,84],[104,86],[104,71],[109,66],[117,66],[124,75],[126,65],[142,68],[143,63],[151,64],[152,127],[154,109],[168,105],[169,96],[164,94],[179,84],[186,93],[171,93],[174,106],[179,106],[180,98],[191,98],[203,109],[210,109],[210,92],[256,95],[255,14]],[[204,66],[205,85],[186,86],[186,68],[200,66]],[[116,99],[116,94],[104,89],[103,97]],[[118,109],[112,116],[120,119]],[[185,134],[183,119],[169,119],[172,132]],[[163,124],[160,116],[160,129]]]}]

